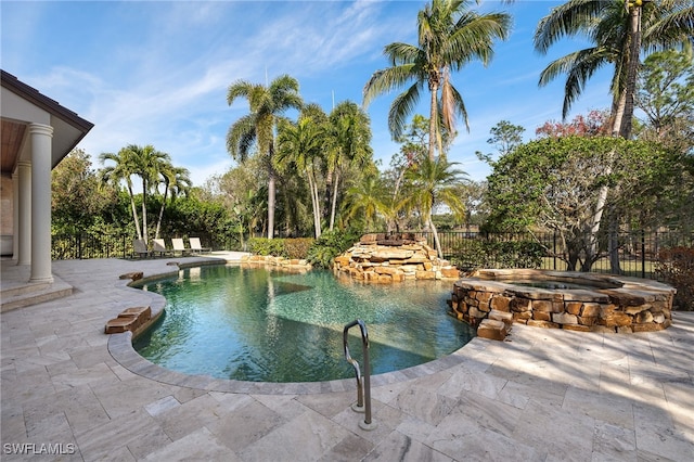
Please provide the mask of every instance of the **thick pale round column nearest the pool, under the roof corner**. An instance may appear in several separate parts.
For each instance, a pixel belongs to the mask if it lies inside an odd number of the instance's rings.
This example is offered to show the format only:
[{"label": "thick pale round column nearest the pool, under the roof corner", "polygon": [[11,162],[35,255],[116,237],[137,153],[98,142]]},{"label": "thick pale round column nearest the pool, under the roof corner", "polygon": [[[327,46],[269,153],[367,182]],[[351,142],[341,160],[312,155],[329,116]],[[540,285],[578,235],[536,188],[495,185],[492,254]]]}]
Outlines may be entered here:
[{"label": "thick pale round column nearest the pool, under the roof corner", "polygon": [[30,124],[31,136],[31,278],[53,282],[51,270],[51,145],[53,127]]}]

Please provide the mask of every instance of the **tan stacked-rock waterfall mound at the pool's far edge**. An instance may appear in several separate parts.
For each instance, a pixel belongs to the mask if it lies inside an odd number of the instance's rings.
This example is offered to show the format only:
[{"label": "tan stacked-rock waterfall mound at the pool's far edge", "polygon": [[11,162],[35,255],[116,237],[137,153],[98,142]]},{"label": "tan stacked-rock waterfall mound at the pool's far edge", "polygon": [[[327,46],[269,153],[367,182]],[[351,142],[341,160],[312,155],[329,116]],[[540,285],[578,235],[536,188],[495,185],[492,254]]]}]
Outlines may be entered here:
[{"label": "tan stacked-rock waterfall mound at the pool's far edge", "polygon": [[460,278],[460,271],[438,258],[426,240],[410,233],[364,234],[335,258],[333,270],[338,275],[377,283]]}]

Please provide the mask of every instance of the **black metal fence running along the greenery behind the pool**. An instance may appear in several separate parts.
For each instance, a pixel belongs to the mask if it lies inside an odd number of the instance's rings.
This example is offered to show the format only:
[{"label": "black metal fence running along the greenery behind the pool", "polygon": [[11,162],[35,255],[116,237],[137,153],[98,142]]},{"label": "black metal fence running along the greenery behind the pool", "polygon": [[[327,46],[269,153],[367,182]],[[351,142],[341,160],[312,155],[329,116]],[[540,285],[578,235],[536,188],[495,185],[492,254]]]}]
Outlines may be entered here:
[{"label": "black metal fence running along the greenery behind the pool", "polygon": [[[430,232],[415,232],[435,247]],[[465,231],[439,231],[444,257],[462,269],[465,268],[541,268],[566,270],[568,253],[562,247],[555,233],[479,233]],[[53,259],[132,258],[133,236],[127,234],[65,234],[54,235]],[[203,246],[215,249],[232,249],[230,244],[211,242],[201,236]],[[170,242],[167,238],[166,242]],[[230,241],[231,242],[231,241]],[[622,274],[657,279],[656,260],[663,248],[694,247],[694,233],[678,231],[635,231],[617,235],[617,256]],[[614,272],[606,251],[606,238],[599,243],[599,258],[592,265],[593,272]]]}]

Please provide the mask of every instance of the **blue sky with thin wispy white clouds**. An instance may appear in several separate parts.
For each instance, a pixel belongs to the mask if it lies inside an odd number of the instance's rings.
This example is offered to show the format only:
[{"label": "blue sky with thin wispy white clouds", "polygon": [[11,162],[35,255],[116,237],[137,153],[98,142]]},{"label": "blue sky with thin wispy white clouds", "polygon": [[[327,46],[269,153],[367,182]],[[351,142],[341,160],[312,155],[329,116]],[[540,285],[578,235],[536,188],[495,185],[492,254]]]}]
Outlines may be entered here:
[{"label": "blue sky with thin wispy white clouds", "polygon": [[[493,152],[489,130],[500,120],[526,128],[560,120],[563,80],[538,88],[552,60],[582,48],[563,41],[539,55],[532,34],[539,20],[562,2],[483,1],[480,11],[505,10],[511,37],[496,47],[492,62],[471,63],[453,75],[465,101],[470,133],[459,120],[449,159],[473,180],[489,167],[476,151]],[[227,104],[230,84],[264,84],[295,77],[306,102],[329,112],[361,91],[374,70],[386,67],[384,46],[416,43],[416,13],[424,0],[408,1],[5,1],[0,3],[2,68],[94,124],[80,142],[101,167],[102,152],[127,144],[153,144],[194,185],[234,165],[226,150],[229,126],[247,114],[243,100]],[[474,2],[473,2],[474,4]],[[595,75],[569,118],[609,106],[608,70]],[[334,97],[333,97],[334,95]],[[374,157],[388,165],[398,145],[387,130],[396,93],[369,107]],[[427,97],[421,114],[428,115]]]}]

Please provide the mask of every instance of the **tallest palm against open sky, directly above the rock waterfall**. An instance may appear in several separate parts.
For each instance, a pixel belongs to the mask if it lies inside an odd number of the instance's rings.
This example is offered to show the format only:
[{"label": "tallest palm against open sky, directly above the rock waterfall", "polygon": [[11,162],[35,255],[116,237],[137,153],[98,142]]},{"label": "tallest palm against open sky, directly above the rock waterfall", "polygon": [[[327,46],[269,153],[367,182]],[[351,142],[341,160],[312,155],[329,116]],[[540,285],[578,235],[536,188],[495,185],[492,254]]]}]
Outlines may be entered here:
[{"label": "tallest palm against open sky, directly above the rock waterfall", "polygon": [[397,139],[419,102],[420,91],[427,85],[430,92],[429,161],[434,161],[435,142],[439,155],[444,154],[439,125],[454,136],[455,115],[460,114],[470,130],[467,111],[462,95],[452,85],[451,73],[473,60],[487,65],[493,55],[493,40],[505,40],[511,26],[509,14],[479,14],[471,10],[471,3],[470,0],[432,0],[417,15],[417,44],[395,42],[386,46],[384,54],[391,67],[376,70],[363,89],[364,105],[368,105],[375,97],[413,81],[390,105],[388,128]]}]

